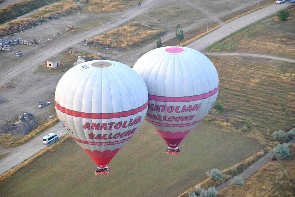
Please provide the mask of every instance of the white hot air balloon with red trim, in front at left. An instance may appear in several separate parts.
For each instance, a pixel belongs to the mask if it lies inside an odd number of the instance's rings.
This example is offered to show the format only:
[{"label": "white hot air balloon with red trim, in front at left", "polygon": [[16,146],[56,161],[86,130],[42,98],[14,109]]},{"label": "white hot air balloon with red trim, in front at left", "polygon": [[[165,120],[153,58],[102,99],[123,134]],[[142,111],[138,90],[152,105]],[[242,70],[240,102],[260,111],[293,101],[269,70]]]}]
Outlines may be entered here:
[{"label": "white hot air balloon with red trim, in front at left", "polygon": [[[99,174],[136,133],[148,107],[142,78],[125,64],[89,61],[69,69],[55,90],[55,110]],[[97,173],[96,173],[97,174]]]}]

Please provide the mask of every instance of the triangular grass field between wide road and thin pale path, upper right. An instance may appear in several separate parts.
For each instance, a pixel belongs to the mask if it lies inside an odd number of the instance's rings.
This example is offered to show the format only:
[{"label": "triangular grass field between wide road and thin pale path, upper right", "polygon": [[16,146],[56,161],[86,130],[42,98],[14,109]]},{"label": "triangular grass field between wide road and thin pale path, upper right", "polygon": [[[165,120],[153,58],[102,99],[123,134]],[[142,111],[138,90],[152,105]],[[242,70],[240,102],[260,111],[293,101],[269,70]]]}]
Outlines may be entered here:
[{"label": "triangular grass field between wide road and thin pale path, upper right", "polygon": [[294,59],[295,8],[289,12],[290,16],[285,22],[279,21],[277,16],[271,16],[216,42],[207,50],[268,54]]}]

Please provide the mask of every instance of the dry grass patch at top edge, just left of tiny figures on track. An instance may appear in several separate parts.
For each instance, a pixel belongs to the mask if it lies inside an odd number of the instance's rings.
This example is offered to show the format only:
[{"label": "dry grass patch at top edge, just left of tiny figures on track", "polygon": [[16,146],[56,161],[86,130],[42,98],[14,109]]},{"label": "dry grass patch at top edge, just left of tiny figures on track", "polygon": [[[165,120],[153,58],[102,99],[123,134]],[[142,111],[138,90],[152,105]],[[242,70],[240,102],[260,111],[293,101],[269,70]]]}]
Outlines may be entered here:
[{"label": "dry grass patch at top edge, just left of tiny figures on track", "polygon": [[130,6],[136,6],[137,3],[137,0],[89,0],[84,9],[88,12],[119,11]]}]

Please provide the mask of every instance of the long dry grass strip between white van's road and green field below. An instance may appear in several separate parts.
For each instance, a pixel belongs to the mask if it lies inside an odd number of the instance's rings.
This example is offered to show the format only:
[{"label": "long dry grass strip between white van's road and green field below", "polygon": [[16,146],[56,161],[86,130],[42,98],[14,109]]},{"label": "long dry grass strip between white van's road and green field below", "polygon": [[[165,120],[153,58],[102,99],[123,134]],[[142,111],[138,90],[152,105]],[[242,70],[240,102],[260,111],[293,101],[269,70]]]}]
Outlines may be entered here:
[{"label": "long dry grass strip between white van's road and green field below", "polygon": [[7,171],[6,173],[2,174],[0,176],[0,185],[2,185],[7,179],[9,179],[14,173],[19,171],[20,169],[24,168],[26,165],[32,163],[36,158],[40,157],[44,153],[52,152],[60,147],[60,145],[67,139],[71,138],[70,135],[66,135],[61,140],[57,141],[56,143],[50,145],[49,147],[45,148],[44,150],[41,150],[39,153],[31,157],[30,159],[26,160],[22,164],[12,168],[11,170]]}]

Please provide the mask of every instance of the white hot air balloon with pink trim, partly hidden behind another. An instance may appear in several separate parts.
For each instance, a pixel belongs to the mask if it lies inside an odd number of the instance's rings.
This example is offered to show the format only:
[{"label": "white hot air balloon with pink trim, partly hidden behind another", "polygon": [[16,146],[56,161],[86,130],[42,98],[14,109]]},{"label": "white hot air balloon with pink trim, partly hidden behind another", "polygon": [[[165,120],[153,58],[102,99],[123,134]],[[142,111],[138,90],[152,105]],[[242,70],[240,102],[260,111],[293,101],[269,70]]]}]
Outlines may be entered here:
[{"label": "white hot air balloon with pink trim, partly hidden behind another", "polygon": [[194,49],[161,47],[140,57],[133,69],[148,87],[146,120],[166,141],[166,154],[179,154],[181,140],[214,105],[216,68]]}]

